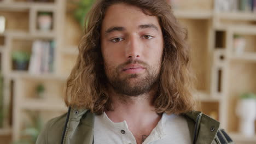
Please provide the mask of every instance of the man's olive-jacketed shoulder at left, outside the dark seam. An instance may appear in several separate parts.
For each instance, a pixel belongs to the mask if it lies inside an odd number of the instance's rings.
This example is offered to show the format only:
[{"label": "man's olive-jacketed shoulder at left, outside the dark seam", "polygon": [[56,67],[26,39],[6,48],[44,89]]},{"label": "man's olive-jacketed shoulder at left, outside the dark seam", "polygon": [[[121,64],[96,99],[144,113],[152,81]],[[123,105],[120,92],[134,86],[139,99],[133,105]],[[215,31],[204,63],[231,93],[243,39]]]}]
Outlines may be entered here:
[{"label": "man's olive-jacketed shoulder at left, outside the dark seam", "polygon": [[40,132],[36,144],[60,143],[66,117],[67,113],[50,119],[50,121],[45,124],[43,130]]}]

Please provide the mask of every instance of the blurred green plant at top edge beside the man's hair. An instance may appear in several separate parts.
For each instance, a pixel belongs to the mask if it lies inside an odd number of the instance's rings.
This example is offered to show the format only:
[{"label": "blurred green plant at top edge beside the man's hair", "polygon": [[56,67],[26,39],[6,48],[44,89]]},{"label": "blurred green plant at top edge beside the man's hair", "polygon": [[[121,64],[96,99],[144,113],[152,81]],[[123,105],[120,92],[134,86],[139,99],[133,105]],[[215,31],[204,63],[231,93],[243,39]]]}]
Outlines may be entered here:
[{"label": "blurred green plant at top edge beside the man's hair", "polygon": [[78,2],[70,1],[74,5],[76,5],[76,9],[74,10],[74,17],[80,23],[80,26],[84,28],[85,26],[85,17],[88,14],[89,10],[94,4],[95,0],[79,0]]}]

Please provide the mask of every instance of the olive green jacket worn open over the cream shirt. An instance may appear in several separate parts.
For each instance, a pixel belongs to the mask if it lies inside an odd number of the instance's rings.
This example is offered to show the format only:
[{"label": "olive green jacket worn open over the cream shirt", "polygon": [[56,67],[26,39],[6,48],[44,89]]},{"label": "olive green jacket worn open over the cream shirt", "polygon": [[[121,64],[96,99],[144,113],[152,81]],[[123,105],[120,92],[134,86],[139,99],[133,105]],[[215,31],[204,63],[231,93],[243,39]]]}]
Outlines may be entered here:
[{"label": "olive green jacket worn open over the cream shirt", "polygon": [[[195,144],[234,143],[219,122],[199,111],[184,113],[191,140]],[[94,114],[88,110],[70,109],[68,113],[51,119],[38,136],[36,144],[92,144],[94,143]]]}]

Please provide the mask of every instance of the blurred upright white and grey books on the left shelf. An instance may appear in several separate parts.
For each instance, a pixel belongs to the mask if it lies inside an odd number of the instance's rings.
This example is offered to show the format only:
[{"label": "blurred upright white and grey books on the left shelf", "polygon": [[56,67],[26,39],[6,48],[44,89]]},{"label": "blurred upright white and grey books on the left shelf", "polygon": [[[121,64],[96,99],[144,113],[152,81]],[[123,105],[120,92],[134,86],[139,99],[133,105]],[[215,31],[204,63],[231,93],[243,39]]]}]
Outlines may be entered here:
[{"label": "blurred upright white and grey books on the left shelf", "polygon": [[53,73],[54,41],[35,40],[28,71],[30,74]]}]

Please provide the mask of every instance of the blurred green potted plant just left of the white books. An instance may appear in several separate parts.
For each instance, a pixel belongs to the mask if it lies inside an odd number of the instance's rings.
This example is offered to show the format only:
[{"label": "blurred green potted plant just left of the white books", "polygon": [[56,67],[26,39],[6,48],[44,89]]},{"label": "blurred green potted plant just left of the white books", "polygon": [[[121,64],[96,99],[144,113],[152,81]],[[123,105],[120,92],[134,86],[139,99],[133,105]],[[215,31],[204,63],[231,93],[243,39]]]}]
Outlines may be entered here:
[{"label": "blurred green potted plant just left of the white books", "polygon": [[30,54],[22,51],[14,51],[11,55],[14,70],[27,70]]}]

